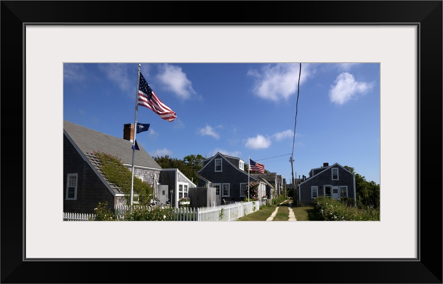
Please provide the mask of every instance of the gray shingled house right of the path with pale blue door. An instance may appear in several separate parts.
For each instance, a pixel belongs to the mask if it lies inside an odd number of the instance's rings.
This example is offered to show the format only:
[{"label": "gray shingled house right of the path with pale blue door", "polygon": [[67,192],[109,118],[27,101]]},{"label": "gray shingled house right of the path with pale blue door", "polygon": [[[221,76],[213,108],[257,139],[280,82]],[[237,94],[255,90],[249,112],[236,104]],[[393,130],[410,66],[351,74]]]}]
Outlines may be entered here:
[{"label": "gray shingled house right of the path with pale blue door", "polygon": [[355,203],[355,175],[338,163],[323,163],[323,167],[311,169],[309,177],[300,181],[298,202],[311,205],[317,196],[349,197]]}]

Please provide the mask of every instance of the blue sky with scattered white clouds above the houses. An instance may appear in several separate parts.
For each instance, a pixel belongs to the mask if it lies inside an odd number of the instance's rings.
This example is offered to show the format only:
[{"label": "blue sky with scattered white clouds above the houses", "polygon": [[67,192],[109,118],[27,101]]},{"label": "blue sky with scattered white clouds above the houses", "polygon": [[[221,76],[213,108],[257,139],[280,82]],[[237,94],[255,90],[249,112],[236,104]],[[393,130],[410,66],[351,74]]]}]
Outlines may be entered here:
[{"label": "blue sky with scattered white clouds above the houses", "polygon": [[[151,156],[218,151],[308,176],[323,163],[380,183],[380,64],[140,63],[177,119],[138,106],[136,140]],[[63,65],[63,118],[123,138],[134,123],[138,63]],[[300,89],[298,80],[300,74]],[[297,115],[297,116],[296,116]],[[294,136],[295,129],[295,136]]]}]

